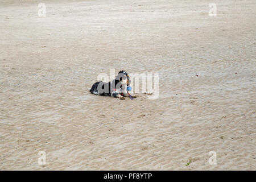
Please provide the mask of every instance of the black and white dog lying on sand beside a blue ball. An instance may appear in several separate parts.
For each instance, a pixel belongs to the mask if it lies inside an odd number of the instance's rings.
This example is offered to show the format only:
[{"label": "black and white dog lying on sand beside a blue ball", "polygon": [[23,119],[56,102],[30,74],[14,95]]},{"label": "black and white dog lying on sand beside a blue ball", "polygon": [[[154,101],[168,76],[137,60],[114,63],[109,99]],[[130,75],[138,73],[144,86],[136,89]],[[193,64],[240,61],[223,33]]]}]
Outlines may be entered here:
[{"label": "black and white dog lying on sand beside a blue ball", "polygon": [[[90,92],[100,96],[111,96],[125,99],[130,94],[127,91],[127,86],[130,84],[128,73],[125,71],[119,71],[117,77],[110,82],[98,81],[93,84]],[[135,96],[133,96],[135,98]]]}]

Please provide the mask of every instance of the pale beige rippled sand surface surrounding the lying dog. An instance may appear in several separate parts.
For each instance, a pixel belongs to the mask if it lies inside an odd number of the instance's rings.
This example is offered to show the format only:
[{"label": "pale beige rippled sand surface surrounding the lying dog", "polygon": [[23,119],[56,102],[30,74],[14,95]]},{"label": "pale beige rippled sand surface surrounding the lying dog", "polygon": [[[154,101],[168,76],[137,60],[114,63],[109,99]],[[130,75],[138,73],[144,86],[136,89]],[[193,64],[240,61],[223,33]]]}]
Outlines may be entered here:
[{"label": "pale beige rippled sand surface surrounding the lying dog", "polygon": [[[38,3],[0,1],[1,170],[256,169],[255,1]],[[159,98],[90,94],[110,69]]]}]

